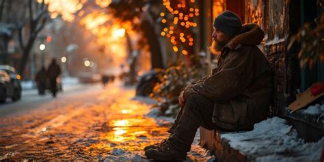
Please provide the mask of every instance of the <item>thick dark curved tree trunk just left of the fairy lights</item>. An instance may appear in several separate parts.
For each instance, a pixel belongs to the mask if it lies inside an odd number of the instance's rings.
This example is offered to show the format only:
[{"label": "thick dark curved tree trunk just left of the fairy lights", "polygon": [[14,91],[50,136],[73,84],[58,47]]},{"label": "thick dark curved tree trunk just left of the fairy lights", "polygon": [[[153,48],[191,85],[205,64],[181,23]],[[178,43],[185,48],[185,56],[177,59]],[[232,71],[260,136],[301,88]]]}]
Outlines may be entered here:
[{"label": "thick dark curved tree trunk just left of the fairy lights", "polygon": [[148,46],[150,47],[152,69],[164,68],[161,46],[153,25],[149,21],[144,20],[141,23],[141,29],[143,30],[144,36],[146,37],[146,40],[148,40]]}]

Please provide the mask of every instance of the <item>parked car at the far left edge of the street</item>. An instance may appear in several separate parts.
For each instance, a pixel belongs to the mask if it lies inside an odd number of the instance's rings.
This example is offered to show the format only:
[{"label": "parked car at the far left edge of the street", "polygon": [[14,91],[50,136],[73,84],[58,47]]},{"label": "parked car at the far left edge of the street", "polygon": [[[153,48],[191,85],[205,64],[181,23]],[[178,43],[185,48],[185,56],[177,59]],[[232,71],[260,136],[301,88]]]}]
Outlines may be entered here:
[{"label": "parked car at the far left edge of the street", "polygon": [[[7,75],[10,77],[10,84],[6,86],[10,86],[10,88],[13,88],[13,94],[10,94],[9,97],[12,98],[12,100],[18,100],[21,98],[21,75],[18,75],[16,70],[12,66],[8,65],[0,65],[0,70],[7,73]],[[7,92],[8,93],[8,92]],[[7,96],[8,97],[8,96]]]}]

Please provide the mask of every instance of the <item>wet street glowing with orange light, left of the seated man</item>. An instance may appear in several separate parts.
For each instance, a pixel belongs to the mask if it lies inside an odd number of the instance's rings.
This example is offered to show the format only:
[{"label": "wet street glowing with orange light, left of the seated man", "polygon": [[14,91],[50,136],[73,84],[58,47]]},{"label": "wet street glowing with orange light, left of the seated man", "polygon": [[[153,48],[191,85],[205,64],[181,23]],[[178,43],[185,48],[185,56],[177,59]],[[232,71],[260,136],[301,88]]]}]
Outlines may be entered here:
[{"label": "wet street glowing with orange light, left of the seated man", "polygon": [[167,137],[170,122],[144,116],[151,105],[134,96],[118,83],[84,85],[0,105],[0,160],[141,158],[144,146]]}]

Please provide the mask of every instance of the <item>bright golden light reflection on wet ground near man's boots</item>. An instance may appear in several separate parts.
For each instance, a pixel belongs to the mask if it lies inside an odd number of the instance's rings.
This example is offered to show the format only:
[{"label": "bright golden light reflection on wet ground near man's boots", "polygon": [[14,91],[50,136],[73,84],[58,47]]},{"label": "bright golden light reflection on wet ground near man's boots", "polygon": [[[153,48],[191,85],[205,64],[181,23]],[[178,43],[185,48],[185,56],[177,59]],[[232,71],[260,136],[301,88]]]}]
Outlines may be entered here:
[{"label": "bright golden light reflection on wet ground near man's boots", "polygon": [[146,118],[144,114],[150,111],[150,107],[138,100],[132,100],[134,95],[135,92],[125,93],[118,102],[109,106],[109,122],[105,125],[111,129],[100,133],[100,139],[105,142],[93,144],[91,147],[111,151],[118,146],[127,151],[142,151],[145,146],[167,137],[168,125],[159,126],[153,118]]}]

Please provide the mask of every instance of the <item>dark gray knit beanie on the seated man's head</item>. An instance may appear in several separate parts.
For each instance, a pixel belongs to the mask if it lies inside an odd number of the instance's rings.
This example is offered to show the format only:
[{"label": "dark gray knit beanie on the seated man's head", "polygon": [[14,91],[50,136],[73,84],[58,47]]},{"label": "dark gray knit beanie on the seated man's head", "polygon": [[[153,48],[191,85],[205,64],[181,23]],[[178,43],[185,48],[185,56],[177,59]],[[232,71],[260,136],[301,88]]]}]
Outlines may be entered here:
[{"label": "dark gray knit beanie on the seated man's head", "polygon": [[232,37],[241,30],[242,21],[234,12],[224,11],[215,18],[213,26],[225,33],[227,36]]}]

